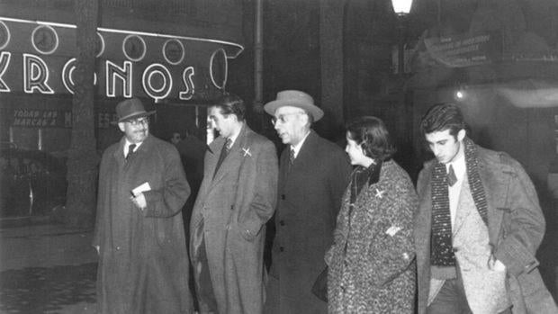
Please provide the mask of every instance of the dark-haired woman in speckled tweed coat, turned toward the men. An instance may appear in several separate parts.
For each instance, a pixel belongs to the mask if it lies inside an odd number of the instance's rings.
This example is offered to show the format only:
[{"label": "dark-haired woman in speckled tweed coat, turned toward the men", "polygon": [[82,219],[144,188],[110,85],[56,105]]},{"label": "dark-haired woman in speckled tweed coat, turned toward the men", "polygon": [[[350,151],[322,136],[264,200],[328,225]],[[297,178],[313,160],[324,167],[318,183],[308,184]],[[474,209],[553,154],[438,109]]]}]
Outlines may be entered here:
[{"label": "dark-haired woman in speckled tweed coat, turned toward the men", "polygon": [[413,313],[413,184],[380,119],[349,124],[345,150],[356,168],[326,255],[329,313]]}]

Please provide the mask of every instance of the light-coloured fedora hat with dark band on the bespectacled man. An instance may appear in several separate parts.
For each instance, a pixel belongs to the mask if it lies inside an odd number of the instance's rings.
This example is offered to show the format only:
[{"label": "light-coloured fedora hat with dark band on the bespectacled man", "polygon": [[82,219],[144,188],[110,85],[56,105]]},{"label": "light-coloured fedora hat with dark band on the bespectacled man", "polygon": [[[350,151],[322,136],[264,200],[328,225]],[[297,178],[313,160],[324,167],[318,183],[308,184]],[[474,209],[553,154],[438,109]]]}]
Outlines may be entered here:
[{"label": "light-coloured fedora hat with dark band on the bespectacled man", "polygon": [[309,112],[314,121],[319,121],[324,116],[324,112],[314,104],[314,99],[310,94],[301,91],[282,91],[277,93],[277,99],[273,102],[266,103],[264,110],[274,115],[275,111],[284,106],[293,106],[301,108]]}]

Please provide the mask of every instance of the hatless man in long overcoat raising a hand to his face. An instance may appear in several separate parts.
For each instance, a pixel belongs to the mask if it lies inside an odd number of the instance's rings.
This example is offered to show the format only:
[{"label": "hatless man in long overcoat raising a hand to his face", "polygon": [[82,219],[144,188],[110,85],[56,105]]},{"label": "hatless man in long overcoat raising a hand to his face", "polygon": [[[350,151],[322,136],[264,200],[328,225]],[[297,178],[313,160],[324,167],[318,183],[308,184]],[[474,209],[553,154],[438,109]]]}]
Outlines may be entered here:
[{"label": "hatless man in long overcoat raising a hand to his face", "polygon": [[245,107],[225,95],[209,109],[220,136],[205,153],[193,206],[190,252],[201,313],[262,313],[266,222],[275,211],[274,144],[248,128]]}]

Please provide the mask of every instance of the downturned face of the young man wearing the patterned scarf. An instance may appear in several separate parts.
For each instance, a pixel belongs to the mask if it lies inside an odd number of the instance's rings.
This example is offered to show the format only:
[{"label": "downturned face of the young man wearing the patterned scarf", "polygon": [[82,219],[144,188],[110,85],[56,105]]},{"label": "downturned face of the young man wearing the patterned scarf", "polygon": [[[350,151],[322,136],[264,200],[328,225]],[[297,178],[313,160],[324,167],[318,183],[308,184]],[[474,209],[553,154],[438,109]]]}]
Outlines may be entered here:
[{"label": "downturned face of the young man wearing the patterned scarf", "polygon": [[450,130],[434,131],[426,135],[428,147],[442,164],[447,164],[461,156],[465,130],[459,130],[457,135],[450,134]]}]

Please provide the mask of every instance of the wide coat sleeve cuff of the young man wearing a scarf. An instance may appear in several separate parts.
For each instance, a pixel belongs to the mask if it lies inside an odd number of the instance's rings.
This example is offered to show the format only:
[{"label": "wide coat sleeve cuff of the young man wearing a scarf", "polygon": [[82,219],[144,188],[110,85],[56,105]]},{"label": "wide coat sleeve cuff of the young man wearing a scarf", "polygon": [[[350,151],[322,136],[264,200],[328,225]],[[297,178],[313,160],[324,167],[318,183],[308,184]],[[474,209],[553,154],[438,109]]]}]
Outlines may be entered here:
[{"label": "wide coat sleeve cuff of the young man wearing a scarf", "polygon": [[510,274],[515,276],[530,273],[539,265],[535,256],[519,243],[506,241],[503,246],[498,248],[494,256],[506,265]]}]

